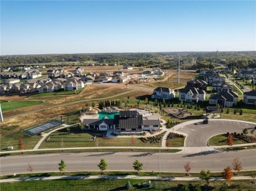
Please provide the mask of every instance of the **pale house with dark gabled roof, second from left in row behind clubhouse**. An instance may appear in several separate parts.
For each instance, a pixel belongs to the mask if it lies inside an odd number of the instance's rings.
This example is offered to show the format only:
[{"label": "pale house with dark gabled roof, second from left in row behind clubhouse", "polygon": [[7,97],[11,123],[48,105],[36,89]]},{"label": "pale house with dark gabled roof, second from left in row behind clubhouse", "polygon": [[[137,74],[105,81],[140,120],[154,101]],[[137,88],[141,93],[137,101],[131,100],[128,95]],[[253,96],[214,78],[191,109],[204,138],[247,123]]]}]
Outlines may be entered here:
[{"label": "pale house with dark gabled roof, second from left in row behind clubhouse", "polygon": [[179,101],[181,100],[185,103],[198,103],[198,101],[204,101],[205,91],[186,86],[179,90]]}]

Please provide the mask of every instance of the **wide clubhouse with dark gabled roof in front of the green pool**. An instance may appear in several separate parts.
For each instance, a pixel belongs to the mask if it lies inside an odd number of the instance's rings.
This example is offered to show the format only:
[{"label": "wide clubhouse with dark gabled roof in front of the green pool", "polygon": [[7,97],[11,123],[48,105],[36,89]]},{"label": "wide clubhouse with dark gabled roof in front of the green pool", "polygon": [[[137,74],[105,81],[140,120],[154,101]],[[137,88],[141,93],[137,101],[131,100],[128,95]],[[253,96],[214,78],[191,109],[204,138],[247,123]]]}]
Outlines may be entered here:
[{"label": "wide clubhouse with dark gabled roof in front of the green pool", "polygon": [[142,130],[159,130],[160,114],[143,117],[137,111],[120,111],[114,119],[84,119],[87,130],[107,131],[113,129],[116,134],[141,134]]}]

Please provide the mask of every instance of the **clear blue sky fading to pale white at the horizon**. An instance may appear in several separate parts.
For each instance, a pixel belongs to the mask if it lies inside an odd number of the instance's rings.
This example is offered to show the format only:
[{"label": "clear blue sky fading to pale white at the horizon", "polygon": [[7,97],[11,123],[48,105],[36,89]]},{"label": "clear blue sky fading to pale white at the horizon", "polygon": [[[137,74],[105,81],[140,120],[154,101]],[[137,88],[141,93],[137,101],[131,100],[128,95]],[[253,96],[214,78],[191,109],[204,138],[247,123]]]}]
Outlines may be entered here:
[{"label": "clear blue sky fading to pale white at the horizon", "polygon": [[1,55],[256,50],[256,1],[3,1]]}]

